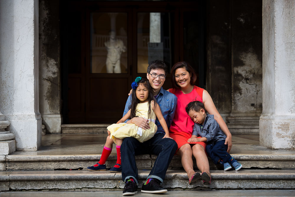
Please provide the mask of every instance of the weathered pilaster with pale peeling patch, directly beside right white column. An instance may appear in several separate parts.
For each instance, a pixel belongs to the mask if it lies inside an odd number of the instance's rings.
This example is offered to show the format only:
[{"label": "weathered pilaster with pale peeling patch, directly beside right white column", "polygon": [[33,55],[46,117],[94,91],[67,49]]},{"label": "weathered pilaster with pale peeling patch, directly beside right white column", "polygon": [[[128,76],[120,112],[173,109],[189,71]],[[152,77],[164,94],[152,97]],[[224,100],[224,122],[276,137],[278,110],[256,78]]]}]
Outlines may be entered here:
[{"label": "weathered pilaster with pale peeling patch, directly beside right white column", "polygon": [[262,2],[232,1],[232,114],[262,112]]}]

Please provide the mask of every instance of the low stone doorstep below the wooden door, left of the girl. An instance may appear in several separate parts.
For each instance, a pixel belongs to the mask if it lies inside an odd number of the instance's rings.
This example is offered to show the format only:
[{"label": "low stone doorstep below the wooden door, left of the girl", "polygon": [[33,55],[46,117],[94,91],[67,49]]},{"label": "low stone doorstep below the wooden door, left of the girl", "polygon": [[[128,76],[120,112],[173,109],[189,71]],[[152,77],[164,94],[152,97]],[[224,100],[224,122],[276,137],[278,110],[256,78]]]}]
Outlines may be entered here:
[{"label": "low stone doorstep below the wooden door, left of the girl", "polygon": [[83,134],[83,133],[107,133],[106,127],[110,124],[62,124],[61,133],[64,134]]}]

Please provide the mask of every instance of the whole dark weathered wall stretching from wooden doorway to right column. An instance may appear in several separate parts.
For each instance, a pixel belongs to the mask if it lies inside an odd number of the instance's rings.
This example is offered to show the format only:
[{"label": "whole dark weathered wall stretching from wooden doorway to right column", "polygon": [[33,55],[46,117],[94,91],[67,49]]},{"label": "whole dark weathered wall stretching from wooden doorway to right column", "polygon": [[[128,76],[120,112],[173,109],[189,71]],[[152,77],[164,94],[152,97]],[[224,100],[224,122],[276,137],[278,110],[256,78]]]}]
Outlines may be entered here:
[{"label": "whole dark weathered wall stretching from wooden doorway to right column", "polygon": [[208,4],[207,89],[222,116],[258,119],[262,112],[261,1]]}]

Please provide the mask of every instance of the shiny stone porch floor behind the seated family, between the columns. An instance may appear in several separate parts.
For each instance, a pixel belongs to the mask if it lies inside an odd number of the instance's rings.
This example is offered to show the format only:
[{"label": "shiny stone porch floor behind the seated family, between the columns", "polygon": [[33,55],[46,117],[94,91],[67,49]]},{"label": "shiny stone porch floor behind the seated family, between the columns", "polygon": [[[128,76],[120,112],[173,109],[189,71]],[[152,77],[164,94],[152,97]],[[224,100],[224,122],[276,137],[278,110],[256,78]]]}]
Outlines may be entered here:
[{"label": "shiny stone porch floor behind the seated family, between the columns", "polygon": [[[14,152],[17,155],[97,155],[101,154],[107,134],[50,134],[42,136],[38,151]],[[271,150],[259,145],[259,135],[232,136],[232,150],[236,155],[294,155],[294,150]],[[113,148],[112,154],[116,154]]]}]

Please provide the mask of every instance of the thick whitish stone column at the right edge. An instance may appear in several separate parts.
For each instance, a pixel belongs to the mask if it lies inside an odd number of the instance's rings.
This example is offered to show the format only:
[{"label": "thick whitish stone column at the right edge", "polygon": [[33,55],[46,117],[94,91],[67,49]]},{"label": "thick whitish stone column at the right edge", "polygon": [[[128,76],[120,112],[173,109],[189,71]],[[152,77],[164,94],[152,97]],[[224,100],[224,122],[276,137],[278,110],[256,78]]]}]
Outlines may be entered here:
[{"label": "thick whitish stone column at the right edge", "polygon": [[263,0],[260,145],[295,149],[295,1]]}]

